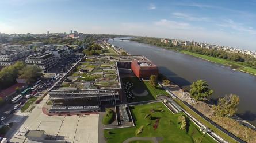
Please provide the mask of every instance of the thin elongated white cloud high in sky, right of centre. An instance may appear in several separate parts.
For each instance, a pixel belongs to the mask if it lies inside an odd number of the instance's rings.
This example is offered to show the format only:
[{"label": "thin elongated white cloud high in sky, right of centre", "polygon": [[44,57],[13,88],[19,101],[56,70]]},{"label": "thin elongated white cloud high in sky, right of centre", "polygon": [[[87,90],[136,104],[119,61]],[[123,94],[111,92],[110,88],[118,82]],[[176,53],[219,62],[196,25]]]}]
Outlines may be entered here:
[{"label": "thin elongated white cloud high in sky, right of centre", "polygon": [[176,12],[176,13],[172,13],[171,15],[173,15],[175,18],[186,19],[188,21],[205,21],[205,22],[210,21],[210,19],[207,17],[195,17],[194,15],[186,14],[186,13]]}]

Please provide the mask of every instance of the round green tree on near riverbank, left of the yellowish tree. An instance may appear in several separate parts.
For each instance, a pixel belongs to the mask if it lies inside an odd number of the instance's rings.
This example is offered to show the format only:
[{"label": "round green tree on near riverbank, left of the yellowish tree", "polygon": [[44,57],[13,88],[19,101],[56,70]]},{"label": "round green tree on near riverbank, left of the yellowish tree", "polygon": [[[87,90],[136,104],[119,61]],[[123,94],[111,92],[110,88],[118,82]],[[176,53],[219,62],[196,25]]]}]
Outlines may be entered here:
[{"label": "round green tree on near riverbank, left of the yellowish tree", "polygon": [[213,90],[209,89],[207,82],[203,80],[197,80],[190,86],[190,94],[195,100],[202,101],[212,93]]}]

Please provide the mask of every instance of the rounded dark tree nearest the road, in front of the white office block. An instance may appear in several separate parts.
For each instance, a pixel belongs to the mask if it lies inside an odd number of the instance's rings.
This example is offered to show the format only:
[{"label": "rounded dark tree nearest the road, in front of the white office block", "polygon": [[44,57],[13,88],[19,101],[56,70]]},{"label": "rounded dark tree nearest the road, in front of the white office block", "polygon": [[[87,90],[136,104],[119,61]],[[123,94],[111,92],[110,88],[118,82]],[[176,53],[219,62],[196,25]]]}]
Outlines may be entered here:
[{"label": "rounded dark tree nearest the road, in front of the white office block", "polygon": [[33,84],[37,78],[43,76],[41,69],[37,66],[26,66],[24,69],[20,70],[19,78],[25,79],[28,85]]}]

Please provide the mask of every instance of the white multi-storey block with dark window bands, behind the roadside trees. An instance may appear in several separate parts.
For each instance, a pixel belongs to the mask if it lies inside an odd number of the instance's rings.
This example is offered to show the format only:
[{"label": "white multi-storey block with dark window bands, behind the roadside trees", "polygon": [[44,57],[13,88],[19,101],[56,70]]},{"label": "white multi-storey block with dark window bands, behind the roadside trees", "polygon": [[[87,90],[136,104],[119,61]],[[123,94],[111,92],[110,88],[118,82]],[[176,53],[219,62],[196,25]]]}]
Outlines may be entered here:
[{"label": "white multi-storey block with dark window bands, behind the roadside trees", "polygon": [[46,72],[56,65],[57,59],[52,53],[39,53],[26,57],[25,62],[27,65],[36,65]]}]

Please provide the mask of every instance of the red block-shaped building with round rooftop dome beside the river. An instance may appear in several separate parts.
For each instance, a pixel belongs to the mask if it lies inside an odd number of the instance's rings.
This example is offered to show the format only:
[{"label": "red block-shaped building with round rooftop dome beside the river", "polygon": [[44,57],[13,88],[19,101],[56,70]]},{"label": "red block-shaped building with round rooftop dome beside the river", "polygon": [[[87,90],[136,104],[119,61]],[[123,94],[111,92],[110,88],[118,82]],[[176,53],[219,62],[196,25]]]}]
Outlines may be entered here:
[{"label": "red block-shaped building with round rooftop dome beside the river", "polygon": [[131,69],[139,78],[149,78],[158,75],[158,67],[150,61],[132,61]]}]

